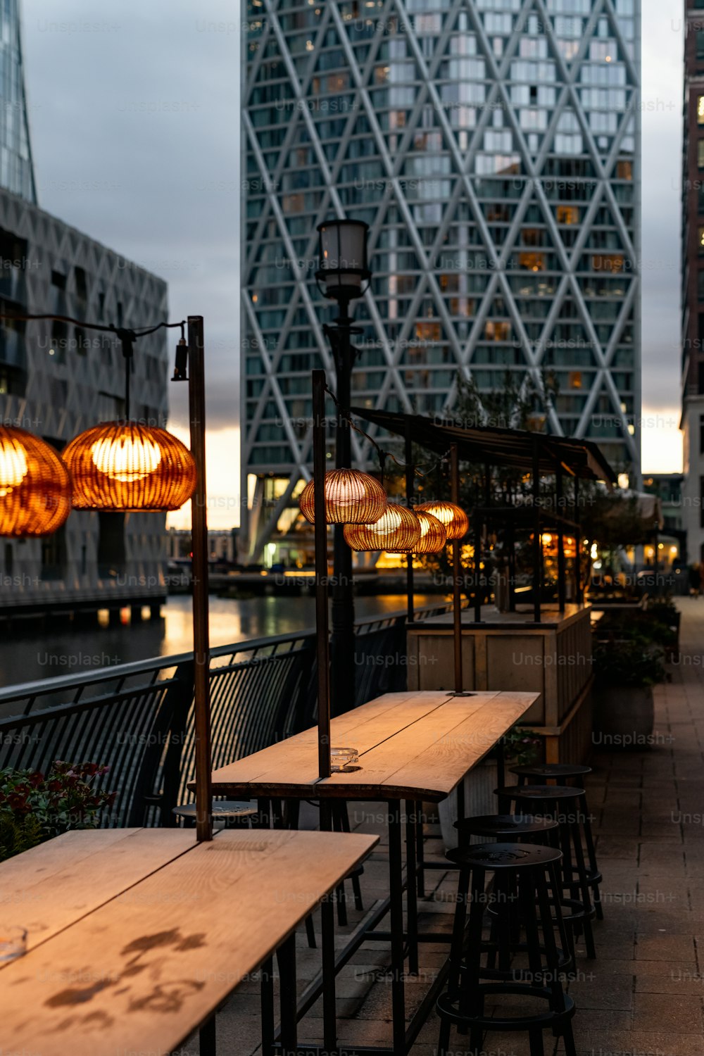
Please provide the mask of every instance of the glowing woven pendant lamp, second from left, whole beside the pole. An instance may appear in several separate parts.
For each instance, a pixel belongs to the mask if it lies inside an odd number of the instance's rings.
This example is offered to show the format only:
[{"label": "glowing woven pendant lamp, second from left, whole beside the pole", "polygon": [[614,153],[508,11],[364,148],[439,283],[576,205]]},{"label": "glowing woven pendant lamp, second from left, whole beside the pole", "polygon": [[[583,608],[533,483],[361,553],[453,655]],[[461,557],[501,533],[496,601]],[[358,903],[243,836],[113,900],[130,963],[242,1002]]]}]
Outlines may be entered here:
[{"label": "glowing woven pendant lamp, second from left, whole beside the pole", "polygon": [[195,489],[188,448],[154,426],[108,421],[63,451],[77,510],[177,510]]}]

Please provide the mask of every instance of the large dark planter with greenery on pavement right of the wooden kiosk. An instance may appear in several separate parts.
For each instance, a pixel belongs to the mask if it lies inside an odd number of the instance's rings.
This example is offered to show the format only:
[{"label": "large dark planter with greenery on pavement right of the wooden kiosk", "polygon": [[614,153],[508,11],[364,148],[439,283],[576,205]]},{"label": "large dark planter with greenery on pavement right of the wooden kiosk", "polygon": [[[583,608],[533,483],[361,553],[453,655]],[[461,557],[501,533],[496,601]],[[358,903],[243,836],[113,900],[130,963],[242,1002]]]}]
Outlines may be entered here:
[{"label": "large dark planter with greenery on pavement right of the wooden kiosk", "polygon": [[666,677],[663,650],[642,635],[594,646],[596,746],[643,749],[652,744],[652,686]]}]

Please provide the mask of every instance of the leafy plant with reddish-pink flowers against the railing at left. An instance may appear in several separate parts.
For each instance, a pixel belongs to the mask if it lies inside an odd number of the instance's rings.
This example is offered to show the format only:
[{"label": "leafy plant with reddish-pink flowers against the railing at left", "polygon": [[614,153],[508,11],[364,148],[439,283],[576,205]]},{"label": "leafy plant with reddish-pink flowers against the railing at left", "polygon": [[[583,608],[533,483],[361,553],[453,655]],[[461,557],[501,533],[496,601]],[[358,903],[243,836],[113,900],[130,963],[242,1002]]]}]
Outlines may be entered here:
[{"label": "leafy plant with reddish-pink flowers against the railing at left", "polygon": [[38,770],[0,770],[0,862],[70,829],[95,829],[115,792],[95,784],[108,773],[96,762],[57,760]]}]

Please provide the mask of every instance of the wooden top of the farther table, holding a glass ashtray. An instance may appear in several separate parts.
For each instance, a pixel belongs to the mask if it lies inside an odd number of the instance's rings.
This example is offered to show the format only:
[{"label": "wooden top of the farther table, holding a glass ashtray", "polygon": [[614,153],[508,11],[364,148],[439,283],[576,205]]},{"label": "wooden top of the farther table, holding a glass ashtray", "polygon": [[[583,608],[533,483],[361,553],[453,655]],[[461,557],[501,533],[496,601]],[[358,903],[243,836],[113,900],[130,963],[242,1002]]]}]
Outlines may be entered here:
[{"label": "wooden top of the farther table, holding a glass ashtray", "polygon": [[334,748],[356,748],[361,769],[318,777],[318,729],[215,770],[213,793],[444,799],[498,739],[526,714],[537,693],[446,690],[386,693],[332,719]]}]

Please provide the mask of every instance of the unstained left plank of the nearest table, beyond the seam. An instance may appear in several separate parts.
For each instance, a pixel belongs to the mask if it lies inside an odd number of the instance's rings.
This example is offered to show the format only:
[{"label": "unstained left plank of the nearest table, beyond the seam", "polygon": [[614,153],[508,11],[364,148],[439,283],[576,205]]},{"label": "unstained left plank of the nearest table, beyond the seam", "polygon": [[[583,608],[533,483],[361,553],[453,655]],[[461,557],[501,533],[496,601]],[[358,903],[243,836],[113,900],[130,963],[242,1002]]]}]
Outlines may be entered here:
[{"label": "unstained left plank of the nearest table, beyond the seam", "polygon": [[[184,829],[66,832],[0,864],[0,917],[26,929],[32,949],[194,843],[193,831]],[[6,966],[0,962],[0,970]]]}]

